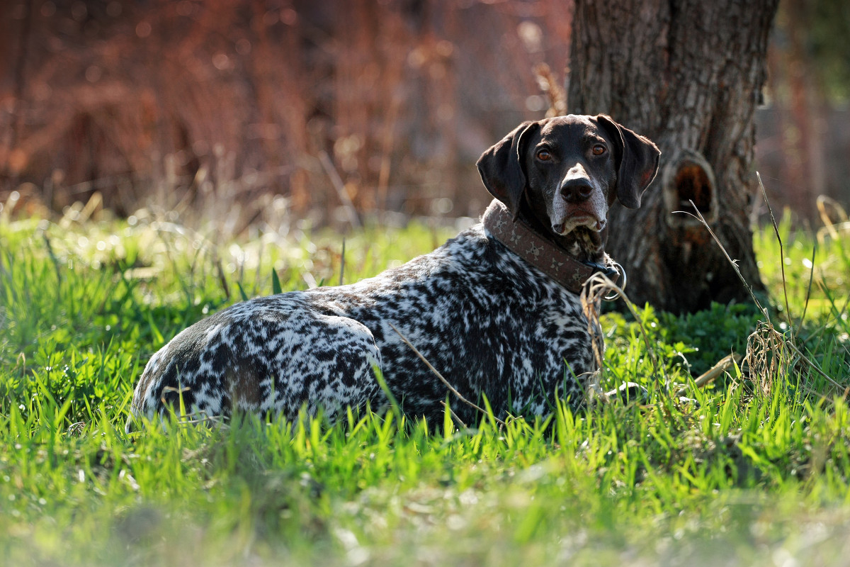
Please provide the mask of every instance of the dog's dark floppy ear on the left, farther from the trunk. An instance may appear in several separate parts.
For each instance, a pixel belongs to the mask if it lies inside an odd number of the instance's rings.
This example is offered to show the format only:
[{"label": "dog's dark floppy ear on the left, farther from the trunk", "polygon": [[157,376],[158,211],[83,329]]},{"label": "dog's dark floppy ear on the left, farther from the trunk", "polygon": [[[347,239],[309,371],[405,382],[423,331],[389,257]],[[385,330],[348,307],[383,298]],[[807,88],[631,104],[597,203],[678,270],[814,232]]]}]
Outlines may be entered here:
[{"label": "dog's dark floppy ear on the left, farther from the trunk", "polygon": [[525,190],[523,167],[526,142],[536,128],[537,122],[523,122],[496,145],[485,151],[475,164],[479,168],[484,187],[490,195],[503,202],[516,220],[519,203]]}]

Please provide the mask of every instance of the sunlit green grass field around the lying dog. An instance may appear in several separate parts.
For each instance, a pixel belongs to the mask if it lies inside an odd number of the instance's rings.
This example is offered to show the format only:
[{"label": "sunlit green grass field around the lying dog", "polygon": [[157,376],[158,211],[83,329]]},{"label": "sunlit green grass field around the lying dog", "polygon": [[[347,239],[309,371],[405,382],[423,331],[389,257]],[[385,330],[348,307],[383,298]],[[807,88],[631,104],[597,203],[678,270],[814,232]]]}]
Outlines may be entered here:
[{"label": "sunlit green grass field around the lying dog", "polygon": [[[344,281],[453,232],[349,236]],[[813,254],[813,234],[782,224],[783,258],[773,227],[757,232],[781,338],[751,305],[604,315],[604,380],[643,383],[648,405],[462,430],[392,412],[332,428],[246,418],[130,439],[133,385],[168,338],[243,294],[340,279],[338,235],[215,234],[0,218],[4,564],[850,562],[850,238]],[[759,322],[762,366],[692,388]]]}]

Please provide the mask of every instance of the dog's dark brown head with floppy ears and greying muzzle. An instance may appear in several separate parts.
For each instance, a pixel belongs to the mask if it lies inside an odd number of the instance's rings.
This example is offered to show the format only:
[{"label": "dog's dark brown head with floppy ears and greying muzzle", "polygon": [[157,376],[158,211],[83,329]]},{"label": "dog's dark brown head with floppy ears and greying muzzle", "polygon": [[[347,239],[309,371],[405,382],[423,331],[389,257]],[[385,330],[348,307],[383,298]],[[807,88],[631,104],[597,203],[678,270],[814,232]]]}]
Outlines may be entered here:
[{"label": "dog's dark brown head with floppy ears and greying muzzle", "polygon": [[565,249],[592,256],[604,245],[615,200],[640,207],[660,151],[609,116],[523,122],[478,161],[484,186]]}]

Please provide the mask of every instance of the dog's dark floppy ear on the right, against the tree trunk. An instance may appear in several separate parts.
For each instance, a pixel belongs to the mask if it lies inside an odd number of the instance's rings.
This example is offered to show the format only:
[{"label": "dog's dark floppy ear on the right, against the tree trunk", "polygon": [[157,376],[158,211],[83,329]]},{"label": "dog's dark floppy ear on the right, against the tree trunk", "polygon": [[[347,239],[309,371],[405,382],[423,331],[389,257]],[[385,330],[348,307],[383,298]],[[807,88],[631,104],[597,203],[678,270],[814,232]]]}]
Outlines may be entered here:
[{"label": "dog's dark floppy ear on the right, against the tree trunk", "polygon": [[658,173],[661,152],[649,139],[622,127],[610,116],[600,114],[596,120],[620,150],[616,153],[617,199],[626,207],[638,208],[640,196]]}]

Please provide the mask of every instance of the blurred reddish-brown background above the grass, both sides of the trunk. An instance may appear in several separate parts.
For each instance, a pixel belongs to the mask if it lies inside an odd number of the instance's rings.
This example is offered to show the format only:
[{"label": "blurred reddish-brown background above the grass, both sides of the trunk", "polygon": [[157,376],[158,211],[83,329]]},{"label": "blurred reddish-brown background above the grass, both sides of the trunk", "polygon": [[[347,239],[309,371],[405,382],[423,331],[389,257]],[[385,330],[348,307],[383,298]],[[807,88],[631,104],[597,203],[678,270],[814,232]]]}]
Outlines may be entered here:
[{"label": "blurred reddish-brown background above the grass, both sides of the trunk", "polygon": [[[570,57],[570,0],[0,6],[6,214],[477,216],[474,162]],[[815,222],[850,202],[850,3],[782,0],[768,68],[757,170]]]}]

